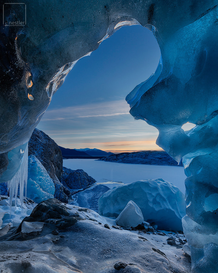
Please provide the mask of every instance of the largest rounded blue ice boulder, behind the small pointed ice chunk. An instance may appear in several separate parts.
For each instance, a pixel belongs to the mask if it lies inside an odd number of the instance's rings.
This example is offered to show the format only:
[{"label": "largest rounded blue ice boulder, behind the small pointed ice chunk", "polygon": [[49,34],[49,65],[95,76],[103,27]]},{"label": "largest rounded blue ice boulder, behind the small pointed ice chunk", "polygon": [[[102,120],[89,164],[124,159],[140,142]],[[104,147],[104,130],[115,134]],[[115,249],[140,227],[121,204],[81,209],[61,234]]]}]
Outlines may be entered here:
[{"label": "largest rounded blue ice boulder, behind the small pointed ice chunk", "polygon": [[140,208],[144,220],[155,222],[158,229],[182,230],[185,198],[179,188],[162,178],[140,180],[108,190],[98,200],[99,214],[118,217],[132,200]]}]

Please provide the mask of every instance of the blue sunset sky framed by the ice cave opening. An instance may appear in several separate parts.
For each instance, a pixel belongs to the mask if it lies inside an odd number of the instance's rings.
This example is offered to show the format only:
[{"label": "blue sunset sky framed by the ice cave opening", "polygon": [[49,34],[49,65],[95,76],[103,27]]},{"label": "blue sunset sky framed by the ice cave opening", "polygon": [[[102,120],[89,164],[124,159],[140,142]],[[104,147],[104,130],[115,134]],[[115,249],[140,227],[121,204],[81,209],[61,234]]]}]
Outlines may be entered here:
[{"label": "blue sunset sky framed by the ice cave opening", "polygon": [[125,100],[159,60],[152,32],[141,25],[122,27],[75,64],[37,128],[65,148],[160,150],[158,130],[134,120]]}]

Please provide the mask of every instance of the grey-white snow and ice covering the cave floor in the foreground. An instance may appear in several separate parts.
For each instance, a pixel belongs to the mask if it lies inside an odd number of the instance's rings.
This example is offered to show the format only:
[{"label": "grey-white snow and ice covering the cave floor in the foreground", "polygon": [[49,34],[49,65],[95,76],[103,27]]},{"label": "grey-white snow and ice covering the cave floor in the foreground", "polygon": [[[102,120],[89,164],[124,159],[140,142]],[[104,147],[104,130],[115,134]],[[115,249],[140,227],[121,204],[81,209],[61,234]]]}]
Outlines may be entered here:
[{"label": "grey-white snow and ice covering the cave floor in the foreground", "polygon": [[[70,217],[79,215],[82,220],[59,230],[58,235],[51,234],[54,229],[52,223],[45,223],[37,236],[1,241],[0,271],[190,273],[190,258],[184,256],[179,243],[179,239],[185,239],[183,234],[168,235],[166,232],[167,236],[161,236],[158,232],[117,230],[112,227],[116,225],[113,219],[89,209],[67,207]],[[108,224],[110,229],[104,224]],[[176,247],[167,244],[168,236],[175,238]],[[114,270],[115,263],[120,261],[128,266],[124,270]]]}]

